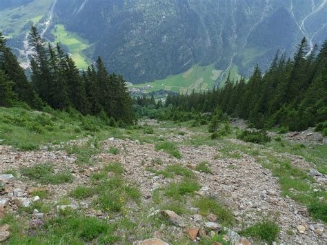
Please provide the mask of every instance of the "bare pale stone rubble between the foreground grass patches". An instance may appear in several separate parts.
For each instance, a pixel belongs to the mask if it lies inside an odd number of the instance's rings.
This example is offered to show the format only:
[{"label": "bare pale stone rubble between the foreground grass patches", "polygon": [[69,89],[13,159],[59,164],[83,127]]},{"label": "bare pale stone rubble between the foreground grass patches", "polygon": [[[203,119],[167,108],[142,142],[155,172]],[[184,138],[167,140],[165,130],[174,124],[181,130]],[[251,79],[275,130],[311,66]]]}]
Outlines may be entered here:
[{"label": "bare pale stone rubble between the foreground grass patches", "polygon": [[[162,130],[162,128],[161,128]],[[187,128],[179,128],[185,135],[168,135],[166,140],[183,141],[192,137],[193,132]],[[237,139],[227,139],[232,144],[246,144]],[[72,141],[70,144],[78,144]],[[222,144],[222,143],[221,143]],[[21,207],[28,207],[34,202],[45,202],[52,206],[48,213],[33,210],[29,219],[39,221],[55,216],[57,211],[67,207],[73,210],[83,210],[85,215],[98,217],[99,219],[119,219],[119,215],[108,217],[108,215],[92,206],[95,197],[77,200],[70,197],[69,193],[77,186],[90,186],[93,173],[97,173],[103,165],[109,162],[120,162],[124,172],[122,177],[128,182],[139,187],[141,193],[140,204],[128,203],[129,209],[139,210],[146,216],[161,215],[168,217],[170,223],[164,223],[158,231],[147,234],[148,239],[138,240],[130,237],[131,244],[170,244],[170,241],[180,237],[188,237],[197,243],[204,237],[212,237],[219,231],[225,231],[224,240],[230,244],[256,244],[251,237],[245,238],[238,235],[244,228],[244,224],[255,224],[261,217],[268,215],[275,217],[280,227],[276,243],[290,244],[326,244],[326,226],[323,222],[310,218],[305,206],[295,202],[288,196],[281,195],[279,179],[273,173],[257,161],[255,156],[239,152],[238,157],[226,157],[219,150],[221,144],[215,146],[191,146],[179,144],[181,159],[170,156],[163,150],[155,150],[155,144],[140,144],[138,140],[130,139],[107,139],[100,142],[101,150],[92,155],[90,166],[75,164],[76,156],[68,155],[65,150],[48,150],[20,152],[11,146],[0,146],[0,182],[2,183],[0,200],[1,219],[8,213],[24,215],[19,213]],[[108,153],[110,148],[119,149],[119,153]],[[231,152],[232,153],[232,150]],[[277,157],[288,157],[292,164],[308,171],[315,179],[317,188],[326,187],[326,176],[312,168],[312,164],[301,157],[280,154]],[[160,163],[157,164],[157,159]],[[54,173],[67,171],[72,174],[72,182],[64,184],[40,184],[32,179],[21,176],[21,168],[31,167],[35,164],[51,163]],[[210,173],[197,171],[196,166],[201,162],[207,162]],[[199,190],[192,197],[187,197],[184,208],[190,212],[177,215],[170,210],[160,210],[153,204],[155,190],[168,188],[172,182],[178,182],[183,177],[165,177],[158,175],[158,171],[164,171],[167,166],[182,166],[191,171],[199,183]],[[16,176],[9,174],[18,173]],[[159,172],[160,173],[160,172]],[[110,178],[110,174],[108,174]],[[313,186],[313,188],[315,188]],[[33,195],[40,191],[48,192],[48,197]],[[200,215],[199,208],[194,206],[191,199],[197,197],[215,197],[221,204],[232,211],[235,223],[226,228],[219,224],[216,215]],[[57,204],[63,198],[69,199],[69,204]],[[165,202],[163,197],[162,202]],[[25,214],[26,215],[26,214]],[[218,218],[218,220],[217,220]],[[134,217],[130,214],[130,219]],[[135,219],[136,220],[136,219]],[[210,232],[209,232],[210,231]],[[290,235],[293,233],[293,235]],[[10,226],[3,224],[0,228],[0,241],[10,238]],[[117,242],[119,243],[119,242]],[[219,242],[212,242],[219,244]]]}]

